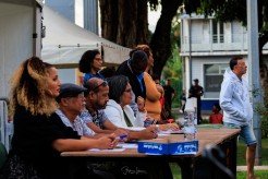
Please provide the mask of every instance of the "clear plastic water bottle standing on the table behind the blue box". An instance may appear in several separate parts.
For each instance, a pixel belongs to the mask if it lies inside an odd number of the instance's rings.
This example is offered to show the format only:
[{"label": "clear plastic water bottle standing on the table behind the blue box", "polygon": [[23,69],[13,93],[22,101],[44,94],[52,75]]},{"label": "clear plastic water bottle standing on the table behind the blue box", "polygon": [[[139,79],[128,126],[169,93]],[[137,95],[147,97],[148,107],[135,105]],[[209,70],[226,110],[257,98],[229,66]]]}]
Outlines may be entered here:
[{"label": "clear plastic water bottle standing on the table behind the blue box", "polygon": [[185,141],[195,140],[196,126],[195,126],[195,112],[194,111],[184,112],[183,133],[184,133]]}]

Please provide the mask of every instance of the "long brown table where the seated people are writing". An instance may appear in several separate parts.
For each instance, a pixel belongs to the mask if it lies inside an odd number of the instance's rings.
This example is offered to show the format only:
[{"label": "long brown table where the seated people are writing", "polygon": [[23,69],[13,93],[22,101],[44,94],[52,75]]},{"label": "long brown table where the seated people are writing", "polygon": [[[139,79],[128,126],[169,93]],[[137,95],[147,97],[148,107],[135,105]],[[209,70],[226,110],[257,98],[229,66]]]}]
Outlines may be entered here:
[{"label": "long brown table where the seated people are writing", "polygon": [[[178,163],[181,167],[183,179],[191,178],[220,178],[218,170],[211,168],[207,160],[202,157],[202,151],[209,144],[215,144],[226,154],[221,160],[235,176],[236,174],[236,145],[240,129],[198,129],[196,140],[198,141],[198,152],[195,155],[146,155],[138,153],[136,148],[126,148],[123,152],[109,151],[80,151],[80,152],[63,152],[62,157],[83,158],[90,162],[137,162],[137,163]],[[170,134],[168,136],[178,141],[184,141],[183,134]],[[203,176],[203,177],[202,177]]]}]

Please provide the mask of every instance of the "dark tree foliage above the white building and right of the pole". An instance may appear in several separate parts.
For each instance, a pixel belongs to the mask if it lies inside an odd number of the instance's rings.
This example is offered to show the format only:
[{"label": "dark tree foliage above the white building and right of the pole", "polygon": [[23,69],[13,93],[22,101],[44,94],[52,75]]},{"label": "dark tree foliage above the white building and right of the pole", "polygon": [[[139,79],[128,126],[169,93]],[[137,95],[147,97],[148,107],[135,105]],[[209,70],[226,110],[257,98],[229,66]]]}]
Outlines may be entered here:
[{"label": "dark tree foliage above the white building and right of the pole", "polygon": [[[246,0],[184,0],[187,13],[197,12],[215,15],[221,22],[240,21],[246,26]],[[259,32],[259,73],[265,96],[268,96],[268,68],[265,64],[263,48],[268,41],[268,1],[258,0],[258,32]],[[265,102],[268,108],[268,102]]]}]

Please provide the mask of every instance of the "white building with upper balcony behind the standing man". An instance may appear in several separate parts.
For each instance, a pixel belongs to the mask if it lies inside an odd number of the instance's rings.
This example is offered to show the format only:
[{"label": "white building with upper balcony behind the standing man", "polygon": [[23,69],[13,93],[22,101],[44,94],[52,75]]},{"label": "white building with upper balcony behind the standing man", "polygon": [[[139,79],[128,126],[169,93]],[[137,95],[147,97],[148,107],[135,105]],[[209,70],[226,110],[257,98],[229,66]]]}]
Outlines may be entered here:
[{"label": "white building with upper balcony behind the standing man", "polygon": [[[267,44],[264,49],[263,53],[267,55]],[[182,15],[180,56],[184,64],[184,88],[187,92],[193,80],[198,79],[204,87],[202,110],[211,110],[212,104],[219,100],[229,60],[242,56],[247,61],[247,31],[237,21],[222,23],[204,15]]]}]

